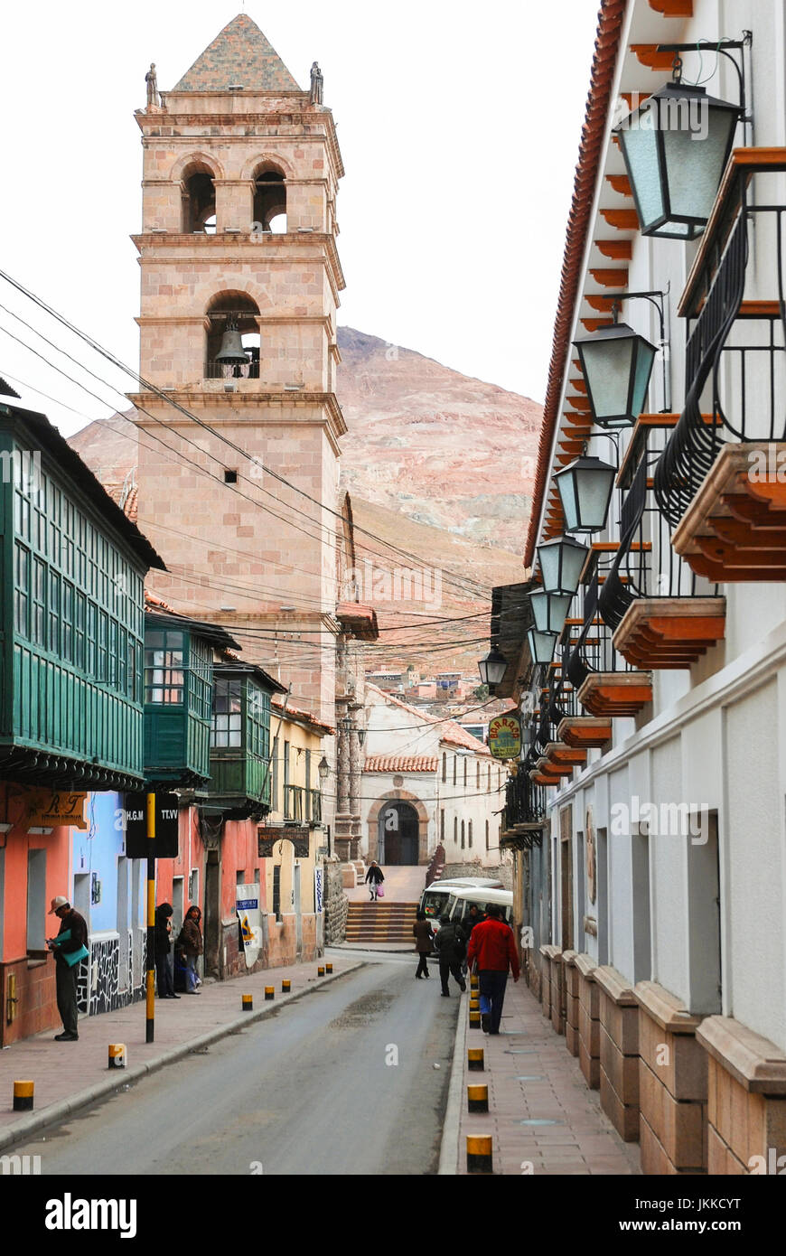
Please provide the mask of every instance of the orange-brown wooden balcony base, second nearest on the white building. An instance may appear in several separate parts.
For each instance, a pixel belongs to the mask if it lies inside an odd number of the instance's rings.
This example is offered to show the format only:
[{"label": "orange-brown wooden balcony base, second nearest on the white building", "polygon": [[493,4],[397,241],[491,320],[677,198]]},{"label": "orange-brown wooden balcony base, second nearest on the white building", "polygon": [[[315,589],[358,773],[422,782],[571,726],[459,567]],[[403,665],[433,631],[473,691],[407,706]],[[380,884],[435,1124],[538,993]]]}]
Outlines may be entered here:
[{"label": "orange-brown wooden balcony base, second nearest on the white building", "polygon": [[724,631],[726,598],[637,598],[613,644],[633,667],[677,671],[717,646]]}]

